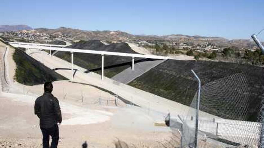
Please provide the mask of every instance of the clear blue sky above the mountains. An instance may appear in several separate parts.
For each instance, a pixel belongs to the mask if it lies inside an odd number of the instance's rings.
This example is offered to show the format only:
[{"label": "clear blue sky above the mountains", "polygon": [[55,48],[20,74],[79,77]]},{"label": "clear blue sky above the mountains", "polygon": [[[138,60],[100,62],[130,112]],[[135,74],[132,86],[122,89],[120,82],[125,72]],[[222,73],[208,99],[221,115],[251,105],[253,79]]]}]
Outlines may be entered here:
[{"label": "clear blue sky above the mountains", "polygon": [[1,0],[0,13],[0,25],[146,35],[248,39],[264,28],[264,0]]}]

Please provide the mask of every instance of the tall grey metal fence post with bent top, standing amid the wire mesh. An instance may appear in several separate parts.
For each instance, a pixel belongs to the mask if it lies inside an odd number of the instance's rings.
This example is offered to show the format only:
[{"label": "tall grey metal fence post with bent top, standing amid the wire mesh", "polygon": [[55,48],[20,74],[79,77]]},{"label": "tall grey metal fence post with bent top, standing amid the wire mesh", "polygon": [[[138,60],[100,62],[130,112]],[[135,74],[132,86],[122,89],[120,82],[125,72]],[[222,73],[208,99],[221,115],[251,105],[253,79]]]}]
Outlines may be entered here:
[{"label": "tall grey metal fence post with bent top, standing amid the wire mesh", "polygon": [[196,73],[191,70],[196,79],[198,80],[198,94],[197,94],[197,99],[196,99],[196,122],[195,122],[195,142],[194,142],[194,147],[197,148],[198,144],[198,118],[199,118],[199,105],[200,105],[200,93],[201,93],[201,81],[199,77],[196,75]]}]

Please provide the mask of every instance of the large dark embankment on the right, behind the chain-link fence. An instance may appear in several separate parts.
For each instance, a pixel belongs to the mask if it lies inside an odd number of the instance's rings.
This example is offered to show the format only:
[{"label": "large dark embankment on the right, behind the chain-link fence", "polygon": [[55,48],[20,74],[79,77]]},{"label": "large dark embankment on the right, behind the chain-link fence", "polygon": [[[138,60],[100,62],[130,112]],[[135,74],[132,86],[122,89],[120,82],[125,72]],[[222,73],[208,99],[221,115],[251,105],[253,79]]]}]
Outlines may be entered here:
[{"label": "large dark embankment on the right, behind the chain-link fence", "polygon": [[189,106],[198,86],[191,69],[201,79],[202,86],[220,78],[243,73],[249,92],[247,120],[256,121],[263,93],[262,67],[227,62],[167,60],[129,85]]}]

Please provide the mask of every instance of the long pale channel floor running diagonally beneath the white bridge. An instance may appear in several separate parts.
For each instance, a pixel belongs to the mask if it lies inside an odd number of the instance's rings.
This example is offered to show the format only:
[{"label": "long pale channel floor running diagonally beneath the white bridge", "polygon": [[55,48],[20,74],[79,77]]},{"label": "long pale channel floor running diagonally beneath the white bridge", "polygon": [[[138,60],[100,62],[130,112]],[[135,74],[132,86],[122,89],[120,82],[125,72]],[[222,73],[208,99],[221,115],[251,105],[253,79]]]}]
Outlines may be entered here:
[{"label": "long pale channel floor running diagonally beneath the white bridge", "polygon": [[[41,53],[39,51],[31,49],[30,52],[34,53],[30,54],[33,58],[41,61]],[[48,54],[44,54],[44,65],[54,69],[55,72],[68,79],[72,78],[70,62],[64,61],[58,57],[51,57]],[[128,86],[107,77],[104,77],[104,80],[101,80],[101,75],[94,72],[85,73],[87,70],[77,65],[74,65],[74,69],[74,82],[87,83],[112,91],[115,94],[118,94],[120,97],[123,97],[124,99],[141,106],[142,108],[146,109],[146,111],[155,110],[156,112],[160,112],[163,115],[166,115],[167,112],[170,111],[172,115],[177,116],[178,114],[186,114],[187,110],[189,109],[188,106],[183,104],[168,100],[146,91],[142,91],[140,89],[136,89],[132,86]],[[161,116],[161,120],[164,120],[163,116]]]}]

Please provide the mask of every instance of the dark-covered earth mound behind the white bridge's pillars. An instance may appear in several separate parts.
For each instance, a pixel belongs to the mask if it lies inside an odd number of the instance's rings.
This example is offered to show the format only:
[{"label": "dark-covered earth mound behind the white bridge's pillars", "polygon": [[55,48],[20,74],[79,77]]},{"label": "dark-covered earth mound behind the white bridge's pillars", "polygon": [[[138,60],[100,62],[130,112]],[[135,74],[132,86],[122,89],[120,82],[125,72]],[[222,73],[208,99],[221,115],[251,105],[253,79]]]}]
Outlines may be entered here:
[{"label": "dark-covered earth mound behind the white bridge's pillars", "polygon": [[[110,45],[104,45],[99,40],[79,41],[78,43],[67,46],[66,48],[136,54],[136,52],[133,51],[127,43],[113,43]],[[69,52],[59,51],[57,54],[55,54],[55,56],[67,60],[68,62],[71,61],[71,55]],[[140,60],[140,58],[135,58],[135,62],[137,60]],[[131,61],[132,61],[131,57],[104,55],[104,75],[106,77],[113,77],[119,72],[130,67]],[[93,71],[98,74],[101,74],[101,55],[74,53],[74,64],[82,68],[88,69],[87,72]]]}]

